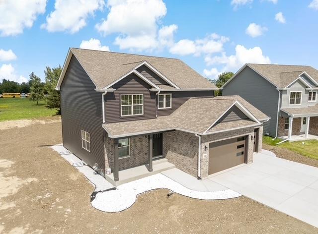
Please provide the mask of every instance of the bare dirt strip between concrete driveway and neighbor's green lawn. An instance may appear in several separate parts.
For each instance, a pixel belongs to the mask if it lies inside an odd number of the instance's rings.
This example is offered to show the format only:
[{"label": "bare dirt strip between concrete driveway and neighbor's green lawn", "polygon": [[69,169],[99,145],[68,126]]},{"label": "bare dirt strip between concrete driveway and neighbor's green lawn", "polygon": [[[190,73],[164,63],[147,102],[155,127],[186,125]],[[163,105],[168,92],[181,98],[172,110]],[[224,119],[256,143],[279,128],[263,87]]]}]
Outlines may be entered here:
[{"label": "bare dirt strip between concrete driveway and neighbor's green lawn", "polygon": [[276,154],[277,157],[282,158],[282,159],[287,159],[290,161],[310,165],[313,167],[318,167],[318,160],[316,159],[311,159],[306,156],[297,154],[293,151],[290,151],[288,149],[284,149],[278,146],[271,146],[271,145],[266,145],[263,144],[262,146],[263,149],[265,150],[270,150]]}]

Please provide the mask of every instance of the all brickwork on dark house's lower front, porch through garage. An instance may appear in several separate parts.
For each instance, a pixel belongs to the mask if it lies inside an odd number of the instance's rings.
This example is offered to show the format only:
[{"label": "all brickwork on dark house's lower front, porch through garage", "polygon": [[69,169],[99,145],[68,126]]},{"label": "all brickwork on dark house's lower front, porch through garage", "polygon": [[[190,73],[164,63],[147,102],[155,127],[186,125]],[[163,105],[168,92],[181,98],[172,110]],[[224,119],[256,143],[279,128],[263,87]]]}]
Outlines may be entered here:
[{"label": "all brickwork on dark house's lower front, porch through garage", "polygon": [[[318,123],[318,120],[317,120]],[[263,126],[259,127],[259,137],[256,144],[261,151]],[[242,128],[234,131],[221,132],[201,136],[201,178],[208,177],[209,143],[234,137],[248,136],[246,163],[253,162],[254,127]],[[183,131],[169,131],[162,133],[162,155],[176,168],[192,176],[198,175],[198,144],[199,138],[195,134]],[[205,146],[207,151],[205,152]],[[114,169],[113,140],[105,137],[105,169]],[[138,167],[148,163],[148,138],[138,136],[130,138],[130,157],[119,159],[119,170]]]}]

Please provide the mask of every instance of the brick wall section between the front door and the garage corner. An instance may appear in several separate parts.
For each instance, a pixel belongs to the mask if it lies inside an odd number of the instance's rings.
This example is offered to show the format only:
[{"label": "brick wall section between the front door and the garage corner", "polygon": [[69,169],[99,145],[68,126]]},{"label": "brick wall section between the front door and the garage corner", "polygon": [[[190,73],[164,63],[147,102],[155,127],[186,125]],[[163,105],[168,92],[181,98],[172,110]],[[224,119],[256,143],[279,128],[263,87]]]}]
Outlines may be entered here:
[{"label": "brick wall section between the front door and the garage corner", "polygon": [[195,134],[183,131],[164,132],[163,156],[176,168],[192,176],[198,173],[199,141]]}]

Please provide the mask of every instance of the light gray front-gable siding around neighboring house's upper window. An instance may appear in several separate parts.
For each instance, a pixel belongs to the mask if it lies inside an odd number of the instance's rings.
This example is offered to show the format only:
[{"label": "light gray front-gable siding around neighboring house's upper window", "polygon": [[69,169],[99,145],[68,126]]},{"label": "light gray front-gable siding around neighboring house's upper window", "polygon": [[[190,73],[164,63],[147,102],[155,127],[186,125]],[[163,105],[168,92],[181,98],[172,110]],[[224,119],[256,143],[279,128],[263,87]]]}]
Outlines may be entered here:
[{"label": "light gray front-gable siding around neighboring house's upper window", "polygon": [[[289,105],[290,92],[301,91],[302,92],[302,105]],[[288,87],[288,90],[282,90],[282,108],[296,108],[296,107],[307,107],[308,104],[308,90],[303,82],[297,80],[295,83]]]}]

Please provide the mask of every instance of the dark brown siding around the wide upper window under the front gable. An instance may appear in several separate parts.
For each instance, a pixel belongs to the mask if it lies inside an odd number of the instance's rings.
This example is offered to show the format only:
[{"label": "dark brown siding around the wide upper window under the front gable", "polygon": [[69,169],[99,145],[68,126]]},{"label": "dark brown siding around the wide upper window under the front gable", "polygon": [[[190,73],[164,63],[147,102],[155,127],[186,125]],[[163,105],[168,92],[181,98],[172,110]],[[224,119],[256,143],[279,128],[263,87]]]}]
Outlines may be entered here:
[{"label": "dark brown siding around the wide upper window under the front gable", "polygon": [[[112,86],[114,92],[108,92],[105,96],[105,118],[106,123],[122,122],[156,117],[155,98],[156,93],[150,92],[152,87],[134,73],[120,80]],[[121,117],[120,95],[143,94],[144,115]]]}]

